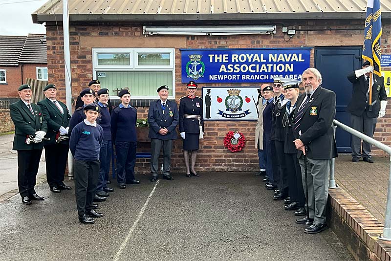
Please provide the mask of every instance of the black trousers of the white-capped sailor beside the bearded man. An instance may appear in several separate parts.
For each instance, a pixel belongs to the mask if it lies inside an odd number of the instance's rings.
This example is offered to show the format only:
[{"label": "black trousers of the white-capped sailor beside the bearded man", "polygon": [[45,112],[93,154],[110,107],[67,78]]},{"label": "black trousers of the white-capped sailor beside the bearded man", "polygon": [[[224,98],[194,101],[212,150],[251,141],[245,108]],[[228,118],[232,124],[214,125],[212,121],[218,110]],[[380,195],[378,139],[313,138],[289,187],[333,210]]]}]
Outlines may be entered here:
[{"label": "black trousers of the white-capped sailor beside the bearded man", "polygon": [[304,207],[305,196],[302,182],[302,168],[300,167],[297,153],[285,154],[285,164],[290,200],[292,202],[299,202],[300,207]]}]

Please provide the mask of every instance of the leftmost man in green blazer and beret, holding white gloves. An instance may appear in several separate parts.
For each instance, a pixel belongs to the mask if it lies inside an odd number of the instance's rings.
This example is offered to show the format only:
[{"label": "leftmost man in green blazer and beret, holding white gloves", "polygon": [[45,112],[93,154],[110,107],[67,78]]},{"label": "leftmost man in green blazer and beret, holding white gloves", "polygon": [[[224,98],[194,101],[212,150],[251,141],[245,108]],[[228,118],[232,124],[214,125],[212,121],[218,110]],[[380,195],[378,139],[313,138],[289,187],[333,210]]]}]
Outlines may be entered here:
[{"label": "leftmost man in green blazer and beret, holding white gloves", "polygon": [[[10,105],[11,119],[15,124],[12,149],[18,152],[18,187],[22,203],[29,205],[31,200],[44,199],[37,195],[34,187],[47,125],[41,108],[31,103],[31,87],[27,84],[20,86],[18,95],[21,100]],[[27,138],[31,138],[31,141],[27,141]]]}]

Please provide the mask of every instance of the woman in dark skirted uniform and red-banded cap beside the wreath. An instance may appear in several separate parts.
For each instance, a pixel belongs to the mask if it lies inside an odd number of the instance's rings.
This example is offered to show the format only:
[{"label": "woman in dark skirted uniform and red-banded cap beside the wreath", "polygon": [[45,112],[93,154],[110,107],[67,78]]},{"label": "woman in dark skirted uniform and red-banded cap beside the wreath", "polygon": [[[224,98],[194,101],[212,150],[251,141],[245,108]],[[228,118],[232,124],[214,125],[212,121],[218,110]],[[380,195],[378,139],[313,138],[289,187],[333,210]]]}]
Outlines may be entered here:
[{"label": "woman in dark skirted uniform and red-banded cap beside the wreath", "polygon": [[[195,160],[199,148],[199,139],[203,138],[204,117],[202,98],[195,96],[197,85],[190,81],[187,85],[187,96],[180,99],[179,132],[183,141],[183,158],[186,165],[186,176],[199,175],[195,172]],[[189,152],[192,152],[192,165],[189,167]]]}]

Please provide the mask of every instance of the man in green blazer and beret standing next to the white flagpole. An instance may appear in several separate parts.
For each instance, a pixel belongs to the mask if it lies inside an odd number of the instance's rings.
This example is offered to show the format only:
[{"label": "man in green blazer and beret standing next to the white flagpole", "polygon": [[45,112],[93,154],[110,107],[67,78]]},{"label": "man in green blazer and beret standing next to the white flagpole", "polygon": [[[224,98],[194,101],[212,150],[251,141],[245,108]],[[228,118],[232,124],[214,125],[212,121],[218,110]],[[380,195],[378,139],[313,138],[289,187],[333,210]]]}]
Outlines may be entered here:
[{"label": "man in green blazer and beret standing next to the white flagpole", "polygon": [[[71,187],[64,184],[66,160],[69,151],[69,119],[70,114],[65,104],[57,100],[57,89],[54,84],[43,88],[45,99],[37,104],[42,109],[43,117],[47,122],[47,134],[43,142],[46,159],[46,180],[50,190],[60,193],[61,190],[70,190]],[[56,140],[61,134],[65,140]],[[59,141],[59,142],[57,142]]]}]

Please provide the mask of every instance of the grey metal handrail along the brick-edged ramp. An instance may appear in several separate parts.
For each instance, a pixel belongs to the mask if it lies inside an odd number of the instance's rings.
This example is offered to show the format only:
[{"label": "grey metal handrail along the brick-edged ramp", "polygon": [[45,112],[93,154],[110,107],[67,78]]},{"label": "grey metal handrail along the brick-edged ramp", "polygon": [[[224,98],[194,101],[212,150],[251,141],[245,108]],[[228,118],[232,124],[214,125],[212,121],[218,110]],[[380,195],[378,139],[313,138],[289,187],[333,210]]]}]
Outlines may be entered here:
[{"label": "grey metal handrail along the brick-edged ramp", "polygon": [[[356,131],[350,127],[348,127],[345,124],[340,123],[337,120],[333,121],[334,125],[334,137],[335,137],[335,128],[336,126],[340,127],[344,131],[348,131],[350,134],[368,142],[369,144],[376,146],[380,150],[387,152],[390,155],[390,173],[389,173],[389,179],[388,179],[388,189],[387,189],[387,204],[386,204],[386,219],[384,222],[384,228],[383,228],[383,235],[380,235],[378,239],[391,241],[391,147],[381,143],[380,141],[377,141],[359,131]],[[331,162],[330,167],[330,183],[334,180],[334,161]],[[335,181],[335,180],[334,180]],[[329,183],[329,184],[330,184]]]}]

